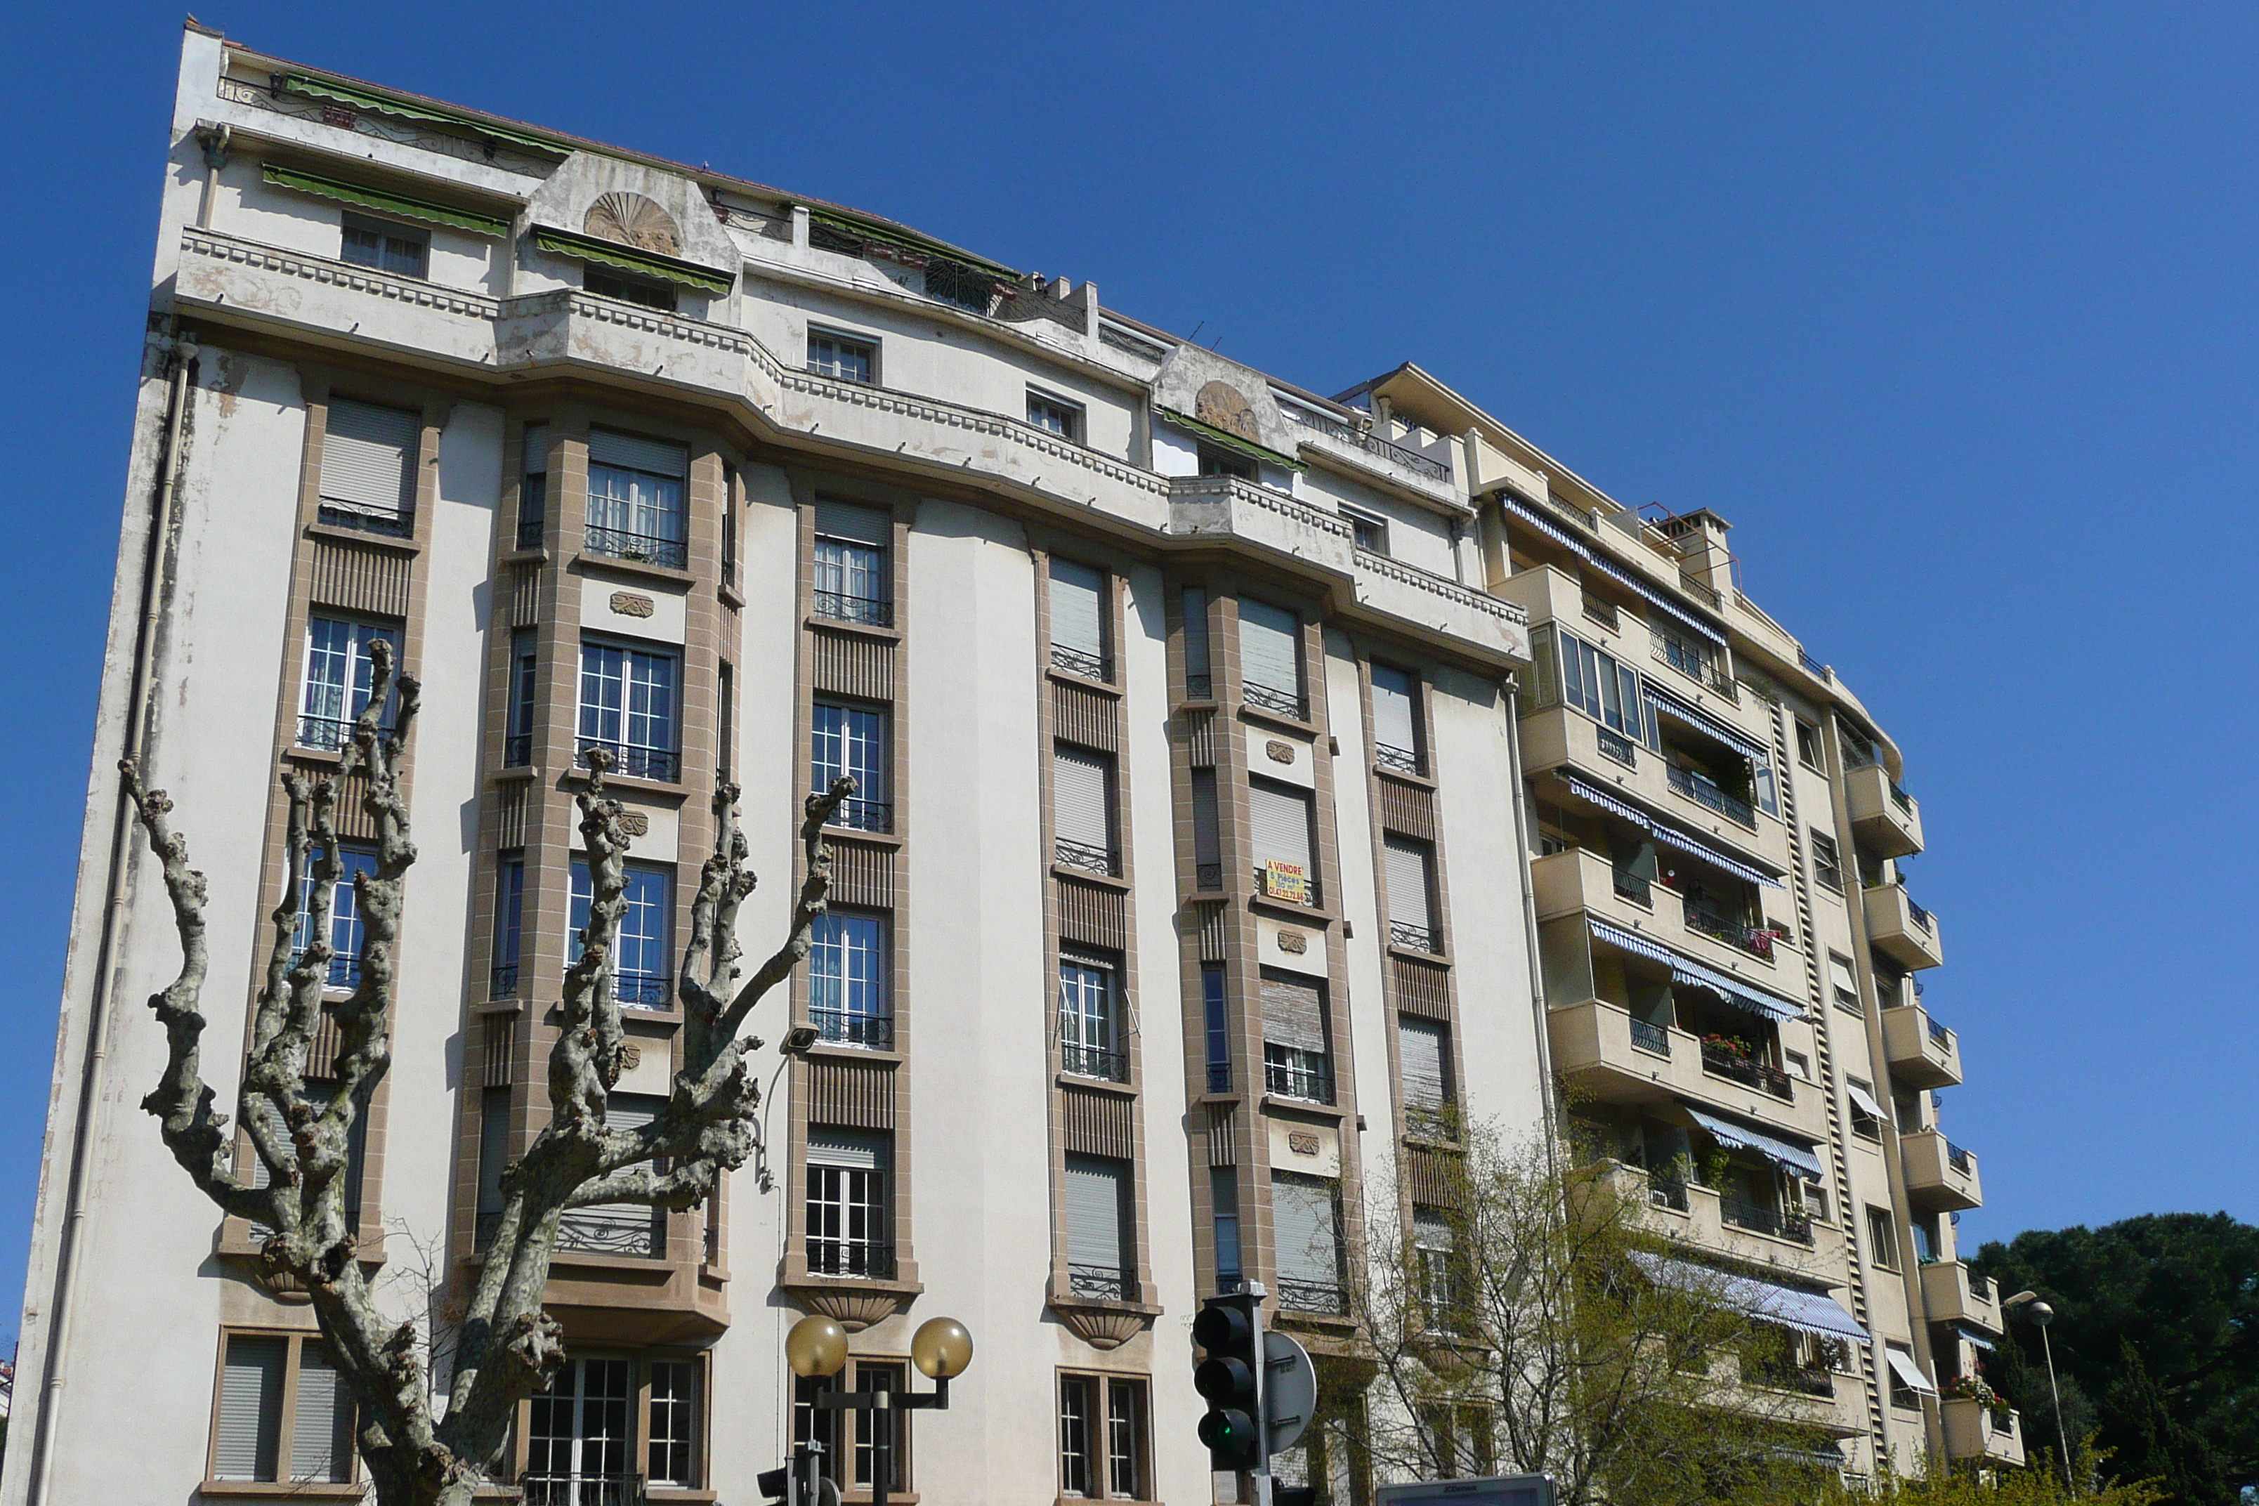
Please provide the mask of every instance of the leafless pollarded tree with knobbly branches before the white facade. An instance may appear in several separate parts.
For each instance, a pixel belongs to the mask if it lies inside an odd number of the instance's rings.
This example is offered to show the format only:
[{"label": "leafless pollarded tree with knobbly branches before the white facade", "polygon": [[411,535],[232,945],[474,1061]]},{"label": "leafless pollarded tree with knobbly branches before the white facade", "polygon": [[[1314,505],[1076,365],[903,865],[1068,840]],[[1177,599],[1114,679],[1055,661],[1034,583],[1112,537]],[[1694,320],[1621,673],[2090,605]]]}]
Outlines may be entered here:
[{"label": "leafless pollarded tree with knobbly branches before the white facade", "polygon": [[[163,863],[181,973],[149,1005],[165,1025],[163,1077],[142,1106],[163,1124],[174,1161],[224,1212],[269,1231],[260,1262],[271,1278],[303,1285],[334,1364],[359,1398],[357,1445],[384,1506],[468,1506],[472,1490],[501,1463],[517,1402],[542,1391],[565,1361],[562,1330],[542,1312],[558,1222],[574,1208],[642,1203],[698,1208],[723,1172],[755,1149],[759,1086],[748,1054],[761,1048],[741,1034],[755,1005],[809,951],[809,933],[831,890],[831,849],[822,829],[854,779],[838,779],[804,802],[800,840],[806,878],[793,905],[791,935],[739,984],[736,914],[752,894],[745,835],[736,820],[736,786],[714,790],[716,840],[707,856],[691,935],[678,973],[682,998],[682,1070],[666,1106],[637,1129],[608,1127],[605,1106],[626,1052],[612,951],[626,910],[628,833],[621,806],[605,797],[603,752],[590,754],[587,788],[574,797],[587,844],[592,903],[583,951],[565,975],[558,1036],[549,1050],[549,1122],[526,1154],[504,1172],[504,1208],[486,1246],[459,1332],[447,1407],[436,1413],[413,1323],[384,1314],[364,1273],[346,1212],[355,1124],[391,1066],[391,1021],[398,993],[395,944],[407,874],[416,863],[409,811],[400,795],[400,761],[416,725],[418,684],[393,671],[391,646],[370,646],[368,707],[352,725],[332,777],[282,774],[289,797],[287,874],[271,928],[264,982],[253,1002],[251,1054],[237,1095],[237,1118],[264,1179],[230,1172],[228,1118],[203,1082],[199,1048],[208,939],[206,881],[187,865],[187,842],[172,829],[172,799],[142,786],[129,759],[127,795]],[[395,711],[386,725],[384,709]],[[359,980],[330,1002],[337,1063],[321,1091],[307,1086],[307,1050],[330,978],[330,921],[343,858],[337,799],[361,774],[361,806],[377,833],[375,867],[355,881],[364,926]],[[260,1185],[264,1183],[264,1185]]]}]

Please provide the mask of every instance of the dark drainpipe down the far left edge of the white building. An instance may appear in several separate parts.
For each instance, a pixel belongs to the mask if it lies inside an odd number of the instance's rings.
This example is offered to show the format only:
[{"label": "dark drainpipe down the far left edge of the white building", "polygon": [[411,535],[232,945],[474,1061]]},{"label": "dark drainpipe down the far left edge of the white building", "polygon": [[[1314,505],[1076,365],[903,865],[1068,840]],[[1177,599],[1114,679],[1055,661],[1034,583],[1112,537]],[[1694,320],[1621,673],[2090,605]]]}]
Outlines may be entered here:
[{"label": "dark drainpipe down the far left edge of the white building", "polygon": [[[221,154],[226,145],[221,145]],[[210,147],[206,147],[210,160]],[[217,172],[217,169],[215,169]],[[140,625],[133,634],[133,682],[127,689],[127,732],[120,752],[142,754],[147,732],[149,680],[156,657],[158,571],[165,558],[165,535],[172,526],[172,504],[181,488],[181,424],[187,413],[187,384],[197,366],[197,345],[174,339],[172,391],[165,397],[165,440],[158,449],[158,483],[149,499],[149,542],[142,551],[142,601]],[[99,754],[97,754],[99,756]],[[86,1176],[93,1138],[95,1104],[102,1102],[102,1072],[108,1066],[111,969],[117,951],[117,928],[124,917],[127,856],[133,840],[131,804],[124,788],[117,793],[117,815],[111,822],[111,867],[108,896],[102,905],[102,942],[95,948],[95,991],[86,1009],[86,1061],[79,1072],[79,1109],[72,1118],[70,1181],[63,1192],[63,1237],[56,1253],[54,1298],[50,1312],[54,1328],[47,1330],[47,1352],[41,1364],[38,1427],[32,1434],[32,1488],[29,1506],[47,1501],[47,1463],[54,1445],[54,1409],[63,1400],[63,1352],[70,1348],[72,1301],[70,1287],[79,1260],[79,1231],[86,1226]]]}]

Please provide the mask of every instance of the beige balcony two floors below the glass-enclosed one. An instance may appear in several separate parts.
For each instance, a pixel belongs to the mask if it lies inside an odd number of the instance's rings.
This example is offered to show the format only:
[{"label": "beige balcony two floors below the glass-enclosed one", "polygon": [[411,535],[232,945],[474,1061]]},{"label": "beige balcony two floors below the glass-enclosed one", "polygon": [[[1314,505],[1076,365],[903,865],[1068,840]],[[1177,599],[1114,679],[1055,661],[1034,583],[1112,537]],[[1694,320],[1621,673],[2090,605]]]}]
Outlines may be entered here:
[{"label": "beige balcony two floors below the glass-enclosed one", "polygon": [[1753,1082],[1758,1072],[1719,1072],[1703,1059],[1703,1041],[1683,1030],[1633,1021],[1631,1012],[1599,998],[1556,1007],[1545,1018],[1554,1068],[1599,1102],[1694,1104],[1809,1140],[1828,1133],[1821,1095],[1809,1082],[1771,1068],[1762,1070],[1762,1086]]}]

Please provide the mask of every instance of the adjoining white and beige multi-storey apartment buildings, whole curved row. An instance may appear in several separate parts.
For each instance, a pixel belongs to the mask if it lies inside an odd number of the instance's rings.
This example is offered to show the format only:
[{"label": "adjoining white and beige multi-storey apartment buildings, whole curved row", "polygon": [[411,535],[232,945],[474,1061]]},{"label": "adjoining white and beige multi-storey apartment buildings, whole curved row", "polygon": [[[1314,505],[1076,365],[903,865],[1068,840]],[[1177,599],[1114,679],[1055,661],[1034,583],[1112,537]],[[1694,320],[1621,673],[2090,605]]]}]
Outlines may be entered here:
[{"label": "adjoining white and beige multi-storey apartment buildings, whole curved row", "polygon": [[[113,770],[140,752],[210,876],[228,1097],[276,774],[337,765],[377,639],[425,682],[352,1183],[402,1312],[445,1314],[547,1113],[587,754],[635,838],[614,1122],[669,1091],[716,779],[755,953],[800,799],[858,781],[757,1021],[813,1036],[768,1057],[761,1161],[696,1215],[569,1217],[526,1499],[752,1501],[822,1436],[849,1501],[881,1468],[1209,1501],[1188,1321],[1245,1278],[1342,1359],[1288,1468],[1367,1501],[1369,1233],[1419,1226],[1453,1111],[1541,1133],[1554,1075],[1690,1260],[1780,1289],[1803,1339],[1767,1384],[1848,1470],[2017,1454],[1934,1395],[1999,1312],[1954,1253],[1977,1167],[1936,1129],[1920,813],[1724,535],[1419,368],[1319,397],[1089,282],[192,23],[0,1495],[361,1490],[303,1294],[136,1106],[178,944]],[[341,903],[341,989],[357,935]],[[978,1359],[881,1450],[784,1366],[802,1312],[852,1330],[838,1384],[915,1384],[935,1314]]]}]

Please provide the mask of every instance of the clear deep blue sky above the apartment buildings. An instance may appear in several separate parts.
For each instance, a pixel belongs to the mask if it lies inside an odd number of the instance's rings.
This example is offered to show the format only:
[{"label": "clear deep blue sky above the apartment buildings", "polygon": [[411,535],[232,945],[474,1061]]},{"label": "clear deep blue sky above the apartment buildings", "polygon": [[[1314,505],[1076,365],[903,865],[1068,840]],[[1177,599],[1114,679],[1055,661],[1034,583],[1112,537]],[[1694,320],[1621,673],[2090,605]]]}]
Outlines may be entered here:
[{"label": "clear deep blue sky above the apartment buildings", "polygon": [[[1963,1237],[2259,1222],[2259,11],[208,5],[1096,278],[1303,386],[1416,359],[1624,501],[1717,508],[1907,747]],[[29,7],[0,61],[7,1330],[178,18]]]}]

